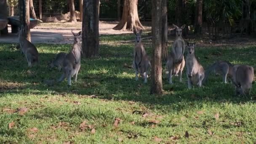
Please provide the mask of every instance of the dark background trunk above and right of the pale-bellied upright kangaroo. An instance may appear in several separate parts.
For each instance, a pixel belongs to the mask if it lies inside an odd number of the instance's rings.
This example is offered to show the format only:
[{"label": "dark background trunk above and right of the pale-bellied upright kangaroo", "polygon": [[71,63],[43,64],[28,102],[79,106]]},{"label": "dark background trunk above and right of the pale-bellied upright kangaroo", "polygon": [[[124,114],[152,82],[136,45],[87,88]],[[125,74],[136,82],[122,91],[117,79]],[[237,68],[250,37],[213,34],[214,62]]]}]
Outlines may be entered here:
[{"label": "dark background trunk above and right of the pale-bellied upright kangaroo", "polygon": [[196,12],[195,12],[195,33],[202,33],[202,10],[203,10],[203,0],[197,0],[196,2]]}]

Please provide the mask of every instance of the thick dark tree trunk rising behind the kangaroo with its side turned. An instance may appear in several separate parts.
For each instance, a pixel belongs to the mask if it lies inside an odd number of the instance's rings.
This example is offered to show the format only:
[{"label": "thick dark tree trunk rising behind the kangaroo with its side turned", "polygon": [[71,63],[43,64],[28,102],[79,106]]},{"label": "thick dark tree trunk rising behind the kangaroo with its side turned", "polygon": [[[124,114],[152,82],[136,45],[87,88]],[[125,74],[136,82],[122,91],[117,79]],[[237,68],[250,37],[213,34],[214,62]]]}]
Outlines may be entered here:
[{"label": "thick dark tree trunk rising behind the kangaroo with its side turned", "polygon": [[82,47],[86,58],[99,56],[99,0],[83,0]]}]

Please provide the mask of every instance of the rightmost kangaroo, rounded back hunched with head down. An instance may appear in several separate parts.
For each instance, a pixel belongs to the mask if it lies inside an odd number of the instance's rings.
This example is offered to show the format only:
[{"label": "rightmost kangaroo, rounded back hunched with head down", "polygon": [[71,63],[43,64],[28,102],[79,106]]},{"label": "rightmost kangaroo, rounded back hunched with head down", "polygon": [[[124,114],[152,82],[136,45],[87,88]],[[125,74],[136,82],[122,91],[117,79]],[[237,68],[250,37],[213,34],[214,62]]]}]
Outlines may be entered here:
[{"label": "rightmost kangaroo, rounded back hunched with head down", "polygon": [[250,94],[254,78],[253,67],[248,65],[235,65],[232,71],[232,82],[235,85],[235,94]]}]

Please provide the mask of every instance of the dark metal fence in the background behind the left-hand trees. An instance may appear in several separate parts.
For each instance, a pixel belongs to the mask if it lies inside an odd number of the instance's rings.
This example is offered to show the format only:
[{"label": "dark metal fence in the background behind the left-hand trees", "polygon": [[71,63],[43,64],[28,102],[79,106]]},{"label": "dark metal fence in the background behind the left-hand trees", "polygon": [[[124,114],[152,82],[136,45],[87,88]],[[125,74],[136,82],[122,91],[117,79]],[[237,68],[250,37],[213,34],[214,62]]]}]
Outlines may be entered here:
[{"label": "dark metal fence in the background behind the left-hand trees", "polygon": [[[117,19],[117,0],[100,0],[100,19]],[[39,0],[33,0],[35,13],[39,16]],[[9,8],[8,8],[9,9]],[[79,0],[75,0],[75,10],[79,11]],[[121,14],[123,0],[121,0]],[[139,0],[138,11],[141,20],[151,19],[151,0]],[[67,0],[42,0],[42,18],[61,16],[69,12]],[[14,16],[19,16],[19,3],[14,6]]]}]

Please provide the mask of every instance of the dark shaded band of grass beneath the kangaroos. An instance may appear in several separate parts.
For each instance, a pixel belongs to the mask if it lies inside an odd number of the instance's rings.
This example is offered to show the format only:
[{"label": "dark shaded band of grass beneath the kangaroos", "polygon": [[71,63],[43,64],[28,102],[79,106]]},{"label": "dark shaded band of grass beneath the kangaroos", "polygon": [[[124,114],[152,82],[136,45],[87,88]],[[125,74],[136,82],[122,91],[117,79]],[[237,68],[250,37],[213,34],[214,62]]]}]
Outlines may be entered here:
[{"label": "dark shaded band of grass beneath the kangaroos", "polygon": [[[103,45],[104,46],[104,45]],[[174,78],[173,85],[169,85],[166,78],[163,78],[164,94],[155,96],[149,94],[149,83],[143,84],[141,78],[135,81],[134,70],[124,67],[127,63],[132,63],[132,47],[128,46],[106,46],[102,47],[102,57],[99,59],[82,59],[81,70],[78,74],[78,81],[72,82],[72,86],[67,87],[67,80],[58,85],[46,85],[45,79],[59,78],[62,72],[56,69],[48,69],[47,61],[51,60],[55,53],[40,53],[40,66],[27,67],[25,58],[19,51],[0,51],[0,72],[1,81],[12,83],[22,83],[23,85],[14,89],[3,90],[3,95],[8,94],[33,94],[33,95],[96,95],[99,99],[109,99],[115,101],[139,101],[144,104],[154,105],[166,111],[189,109],[195,105],[202,106],[203,103],[214,104],[222,102],[240,103],[251,101],[250,98],[234,96],[234,86],[223,84],[221,78],[211,76],[209,83],[203,88],[187,89],[187,78],[183,75],[183,82],[179,83],[177,77]],[[119,48],[119,49],[117,49]],[[233,60],[233,63],[255,64],[248,59],[254,59],[255,51],[253,47],[231,49],[196,49],[199,61],[203,66],[209,66],[215,60]],[[221,51],[221,54],[218,54]],[[118,53],[119,52],[119,53]],[[108,56],[108,54],[111,54]],[[232,53],[232,54],[230,54]],[[247,54],[245,56],[245,54]],[[207,57],[207,58],[206,58]],[[185,73],[185,72],[184,72]],[[163,75],[165,77],[165,75]],[[253,85],[252,97],[255,100],[256,85]],[[161,107],[160,107],[161,106]]]}]

